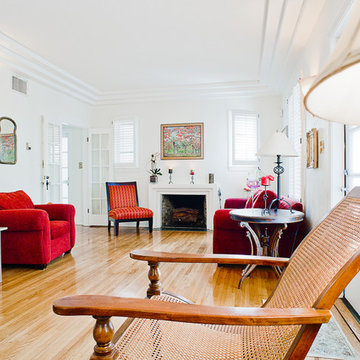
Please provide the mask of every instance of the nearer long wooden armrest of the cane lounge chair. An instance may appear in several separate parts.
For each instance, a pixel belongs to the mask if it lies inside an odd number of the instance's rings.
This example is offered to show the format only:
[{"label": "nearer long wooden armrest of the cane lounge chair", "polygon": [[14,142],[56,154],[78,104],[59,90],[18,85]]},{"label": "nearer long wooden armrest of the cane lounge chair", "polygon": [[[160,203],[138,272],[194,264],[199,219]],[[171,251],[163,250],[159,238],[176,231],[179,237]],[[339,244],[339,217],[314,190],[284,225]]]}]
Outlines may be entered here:
[{"label": "nearer long wooden armrest of the cane lounge chair", "polygon": [[322,324],[330,320],[329,310],[237,308],[178,304],[149,299],[79,295],[57,299],[58,315],[126,316],[158,320],[226,325]]}]

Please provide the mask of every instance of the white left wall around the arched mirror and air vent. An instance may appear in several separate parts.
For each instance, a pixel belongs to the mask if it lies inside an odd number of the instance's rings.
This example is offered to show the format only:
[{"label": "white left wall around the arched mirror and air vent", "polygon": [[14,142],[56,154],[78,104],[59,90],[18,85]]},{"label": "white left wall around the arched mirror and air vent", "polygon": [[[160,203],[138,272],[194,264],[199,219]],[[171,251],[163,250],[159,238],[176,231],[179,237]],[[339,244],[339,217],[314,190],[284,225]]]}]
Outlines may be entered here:
[{"label": "white left wall around the arched mirror and air vent", "polygon": [[[17,163],[0,164],[1,191],[22,189],[35,203],[41,202],[41,117],[50,122],[87,127],[90,106],[35,81],[28,82],[28,94],[11,89],[13,73],[0,67],[0,116],[17,124]],[[26,142],[31,150],[25,149]]]}]

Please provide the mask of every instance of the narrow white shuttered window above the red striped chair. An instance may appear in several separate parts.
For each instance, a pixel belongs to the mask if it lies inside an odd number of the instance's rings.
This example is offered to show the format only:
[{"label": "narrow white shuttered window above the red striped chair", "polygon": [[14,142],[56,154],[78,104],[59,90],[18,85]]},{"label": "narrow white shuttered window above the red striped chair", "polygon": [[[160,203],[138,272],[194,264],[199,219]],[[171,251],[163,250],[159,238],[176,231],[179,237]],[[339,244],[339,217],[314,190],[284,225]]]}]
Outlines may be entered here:
[{"label": "narrow white shuttered window above the red striped chair", "polygon": [[114,164],[120,167],[136,167],[136,132],[134,120],[114,121]]}]

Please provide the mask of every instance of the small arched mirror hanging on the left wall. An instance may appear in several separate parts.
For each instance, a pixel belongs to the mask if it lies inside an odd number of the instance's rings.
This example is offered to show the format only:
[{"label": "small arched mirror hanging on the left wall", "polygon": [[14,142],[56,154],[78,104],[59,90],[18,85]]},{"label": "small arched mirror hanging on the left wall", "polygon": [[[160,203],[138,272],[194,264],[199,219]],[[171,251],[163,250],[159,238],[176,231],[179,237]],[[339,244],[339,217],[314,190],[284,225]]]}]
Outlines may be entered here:
[{"label": "small arched mirror hanging on the left wall", "polygon": [[0,117],[0,164],[16,164],[16,123]]}]

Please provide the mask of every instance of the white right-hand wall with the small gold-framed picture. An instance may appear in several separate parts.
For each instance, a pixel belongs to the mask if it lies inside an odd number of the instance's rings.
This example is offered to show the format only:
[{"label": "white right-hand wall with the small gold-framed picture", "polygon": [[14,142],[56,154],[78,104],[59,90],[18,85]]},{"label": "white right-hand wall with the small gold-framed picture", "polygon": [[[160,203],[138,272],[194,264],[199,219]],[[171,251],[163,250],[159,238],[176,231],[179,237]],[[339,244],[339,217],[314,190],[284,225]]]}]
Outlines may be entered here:
[{"label": "white right-hand wall with the small gold-framed picture", "polygon": [[[334,31],[346,1],[332,0],[326,3],[316,28],[313,30],[306,51],[292,69],[285,86],[285,98],[300,76],[319,74],[326,64],[334,47]],[[305,170],[306,219],[309,228],[316,225],[341,198],[343,177],[343,158],[341,156],[343,132],[328,121],[306,116],[305,130],[316,128],[319,131],[319,142],[324,142],[324,151],[319,154],[319,168]]]}]

